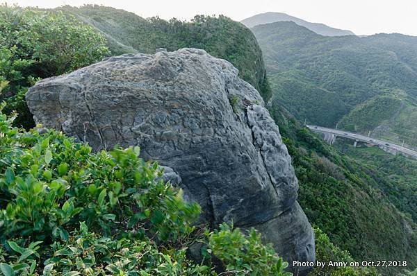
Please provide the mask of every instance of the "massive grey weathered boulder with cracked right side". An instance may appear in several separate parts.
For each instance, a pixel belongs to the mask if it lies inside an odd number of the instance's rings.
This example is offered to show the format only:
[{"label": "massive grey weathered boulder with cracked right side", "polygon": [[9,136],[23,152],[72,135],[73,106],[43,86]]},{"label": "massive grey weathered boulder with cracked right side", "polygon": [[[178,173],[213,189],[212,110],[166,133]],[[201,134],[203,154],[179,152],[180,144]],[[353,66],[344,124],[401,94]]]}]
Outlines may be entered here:
[{"label": "massive grey weathered boulder with cracked right side", "polygon": [[211,225],[255,227],[286,261],[315,259],[291,157],[261,96],[229,62],[197,49],[121,55],[41,80],[26,101],[37,123],[95,150],[140,146],[179,174]]}]

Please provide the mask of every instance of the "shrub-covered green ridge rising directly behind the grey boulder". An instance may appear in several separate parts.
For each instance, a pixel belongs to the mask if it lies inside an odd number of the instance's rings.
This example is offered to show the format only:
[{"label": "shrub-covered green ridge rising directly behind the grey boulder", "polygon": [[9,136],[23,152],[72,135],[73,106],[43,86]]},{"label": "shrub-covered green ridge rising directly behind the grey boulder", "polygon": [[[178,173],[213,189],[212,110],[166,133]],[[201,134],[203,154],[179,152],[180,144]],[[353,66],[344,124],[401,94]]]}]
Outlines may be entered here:
[{"label": "shrub-covered green ridge rising directly behind the grey boulder", "polygon": [[239,69],[239,76],[267,92],[261,49],[252,32],[243,24],[220,15],[197,15],[191,21],[158,17],[143,19],[132,12],[104,6],[58,8],[70,13],[106,35],[114,54],[155,53],[156,48],[174,51],[184,47],[204,49],[228,60]]}]

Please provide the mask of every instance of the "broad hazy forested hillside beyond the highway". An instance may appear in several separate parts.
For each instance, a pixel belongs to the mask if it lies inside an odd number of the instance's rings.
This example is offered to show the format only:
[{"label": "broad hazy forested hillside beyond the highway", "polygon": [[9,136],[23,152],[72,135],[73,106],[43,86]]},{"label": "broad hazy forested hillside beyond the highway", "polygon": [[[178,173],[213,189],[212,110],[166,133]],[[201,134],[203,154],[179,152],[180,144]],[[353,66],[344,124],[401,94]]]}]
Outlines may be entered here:
[{"label": "broad hazy forested hillside beyond the highway", "polygon": [[417,146],[417,37],[324,37],[292,22],[253,31],[274,97],[297,119]]}]

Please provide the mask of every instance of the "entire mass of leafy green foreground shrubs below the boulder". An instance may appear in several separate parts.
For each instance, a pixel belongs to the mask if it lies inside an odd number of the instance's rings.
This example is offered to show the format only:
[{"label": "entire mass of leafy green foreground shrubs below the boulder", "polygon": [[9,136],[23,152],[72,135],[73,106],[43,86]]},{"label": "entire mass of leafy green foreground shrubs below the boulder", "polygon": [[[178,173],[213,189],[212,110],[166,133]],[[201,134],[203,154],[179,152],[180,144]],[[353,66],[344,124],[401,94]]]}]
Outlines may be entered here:
[{"label": "entire mass of leafy green foreground shrubs below the boulder", "polygon": [[[227,275],[284,275],[286,263],[254,230],[221,225],[199,237],[199,205],[163,182],[139,148],[92,153],[62,132],[15,128],[14,119],[0,108],[4,275],[217,275],[212,257]],[[196,242],[212,253],[202,264],[186,257]]]}]

